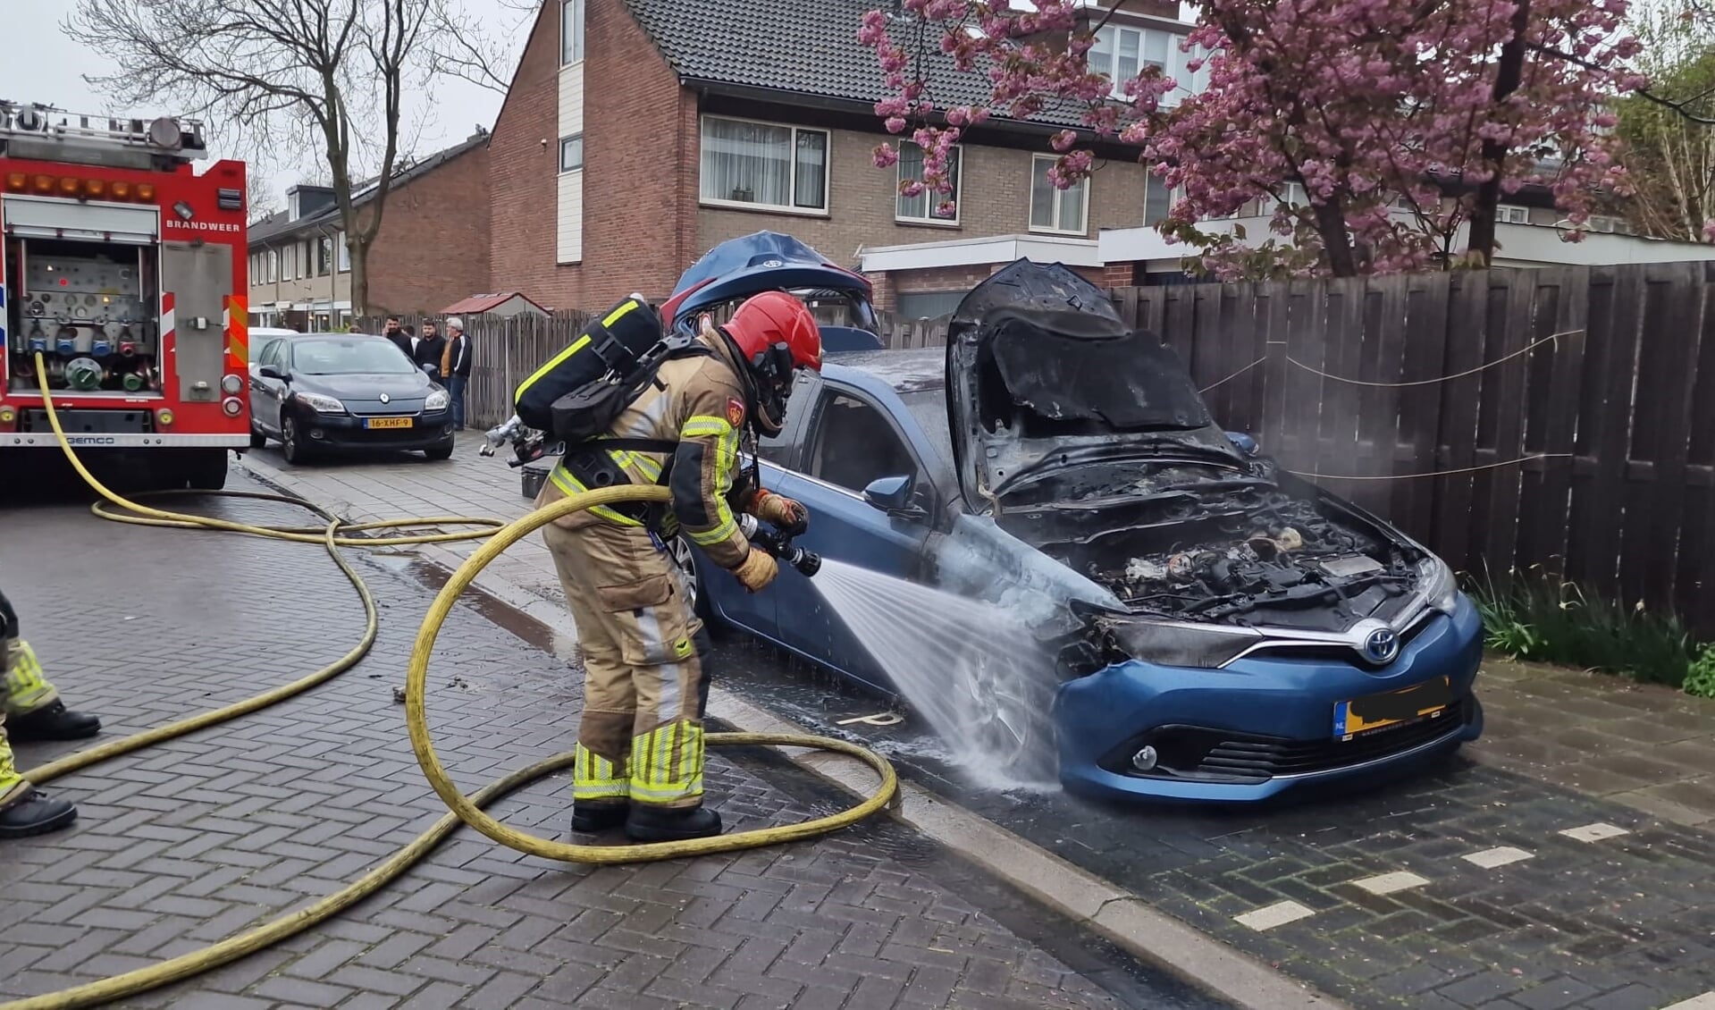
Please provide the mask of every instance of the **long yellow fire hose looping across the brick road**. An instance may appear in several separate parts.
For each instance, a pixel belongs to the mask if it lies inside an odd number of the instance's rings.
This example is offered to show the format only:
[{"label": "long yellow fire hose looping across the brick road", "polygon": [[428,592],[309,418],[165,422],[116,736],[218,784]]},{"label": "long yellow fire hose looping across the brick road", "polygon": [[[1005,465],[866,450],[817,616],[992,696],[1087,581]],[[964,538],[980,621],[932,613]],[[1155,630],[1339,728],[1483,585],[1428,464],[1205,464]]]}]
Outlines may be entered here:
[{"label": "long yellow fire hose looping across the brick road", "polygon": [[[36,374],[45,376],[43,358],[36,355]],[[516,828],[508,828],[497,820],[490,818],[482,811],[484,806],[501,799],[502,796],[551,775],[554,772],[569,768],[573,763],[573,753],[566,751],[544,758],[527,768],[520,768],[497,782],[490,782],[484,789],[472,796],[465,796],[458,787],[448,779],[446,768],[441,767],[441,760],[434,753],[434,744],[429,737],[427,712],[424,708],[424,689],[429,677],[429,653],[434,650],[436,636],[441,631],[441,624],[446,622],[448,614],[458,600],[458,595],[465,592],[466,586],[477,578],[489,562],[501,556],[508,547],[521,540],[523,537],[533,533],[540,526],[576,511],[602,504],[631,502],[631,501],[665,501],[669,492],[662,487],[607,487],[600,490],[592,490],[587,494],[571,496],[561,499],[547,508],[537,509],[514,523],[502,523],[501,520],[490,518],[470,518],[470,516],[425,516],[425,518],[406,518],[406,520],[384,520],[377,523],[355,523],[346,525],[338,516],[329,511],[305,502],[302,499],[281,496],[281,494],[262,494],[247,490],[223,490],[223,492],[154,492],[154,494],[214,494],[220,497],[242,497],[256,501],[278,501],[305,508],[316,513],[317,518],[326,521],[321,530],[310,526],[256,526],[250,523],[235,523],[230,520],[218,520],[211,516],[197,516],[190,513],[173,513],[166,509],[149,508],[139,504],[120,494],[110,490],[101,484],[77,458],[70,442],[65,437],[65,430],[60,427],[60,418],[53,408],[53,398],[46,389],[41,391],[41,401],[48,413],[48,424],[53,427],[53,434],[60,442],[60,449],[65,458],[70,460],[72,468],[77,475],[94,489],[96,494],[105,501],[94,502],[91,511],[103,520],[111,520],[117,523],[134,523],[141,526],[170,526],[178,530],[223,530],[228,533],[247,533],[250,537],[264,537],[269,540],[292,540],[298,544],[321,544],[328,556],[333,557],[340,571],[357,590],[358,598],[364,604],[364,636],[362,640],[343,657],[333,664],[300,677],[290,684],[283,684],[271,691],[264,691],[254,698],[226,705],[190,718],[182,718],[178,722],[161,725],[135,736],[110,741],[91,748],[87,751],[79,751],[60,758],[58,761],[50,761],[39,768],[31,768],[24,775],[34,782],[43,784],[53,779],[60,779],[81,768],[87,768],[98,761],[108,758],[117,758],[120,754],[129,754],[132,751],[142,749],[149,744],[180,737],[199,729],[208,729],[240,715],[257,712],[269,705],[276,705],[302,694],[317,684],[324,684],[333,677],[352,669],[364,658],[364,655],[376,643],[376,633],[379,628],[379,619],[376,612],[376,600],[370,595],[369,586],[364,578],[352,568],[352,564],[340,554],[340,547],[398,547],[408,544],[439,544],[448,540],[473,540],[478,537],[492,537],[484,544],[465,564],[458,566],[458,571],[448,580],[448,583],[436,595],[434,604],[430,604],[429,612],[424,616],[424,622],[417,631],[417,645],[412,648],[410,667],[406,670],[405,681],[405,722],[412,737],[412,751],[417,753],[417,761],[422,765],[424,775],[429,784],[434,785],[436,794],[448,804],[451,813],[437,820],[427,832],[417,835],[403,849],[389,856],[379,866],[365,873],[362,878],[355,880],[343,890],[338,890],[324,899],[319,899],[302,909],[278,916],[254,929],[228,936],[220,943],[213,943],[201,950],[192,950],[182,953],[172,960],[154,964],[149,967],[129,971],[125,974],[111,976],[94,983],[86,983],[81,986],[72,986],[69,989],[60,989],[57,993],[45,993],[41,996],[27,996],[24,1000],[14,1000],[10,1003],[0,1003],[0,1010],[67,1010],[72,1007],[99,1007],[111,1000],[120,1000],[123,996],[134,996],[159,986],[184,981],[223,964],[230,964],[256,953],[264,947],[278,943],[288,936],[302,933],[317,923],[338,916],[345,909],[355,905],[365,897],[376,893],[389,881],[398,878],[401,873],[410,869],[417,861],[429,856],[436,845],[439,845],[453,830],[463,821],[484,835],[494,839],[496,842],[516,849],[520,852],[530,852],[533,856],[542,856],[547,859],[559,859],[564,863],[650,863],[659,859],[679,859],[686,856],[708,856],[715,852],[734,852],[739,849],[760,849],[763,845],[779,845],[782,842],[796,842],[801,839],[811,839],[816,835],[825,835],[828,832],[849,827],[859,820],[876,813],[890,801],[894,801],[899,791],[899,779],[894,772],[892,763],[882,754],[832,737],[820,736],[796,736],[796,734],[760,734],[760,732],[713,732],[708,734],[707,742],[710,746],[789,746],[789,748],[808,748],[821,751],[837,751],[849,754],[870,765],[880,777],[880,785],[876,791],[845,811],[821,816],[811,821],[797,825],[782,825],[777,828],[760,828],[753,832],[734,832],[731,835],[717,835],[713,839],[693,839],[688,842],[653,842],[645,845],[573,845],[568,842],[556,842],[552,839],[540,839],[520,832]],[[106,506],[115,506],[123,511],[111,511]],[[441,533],[396,533],[382,537],[352,537],[343,533],[364,533],[369,530],[394,530],[394,528],[420,528],[420,526],[478,526],[475,530],[461,532],[441,532]]]}]

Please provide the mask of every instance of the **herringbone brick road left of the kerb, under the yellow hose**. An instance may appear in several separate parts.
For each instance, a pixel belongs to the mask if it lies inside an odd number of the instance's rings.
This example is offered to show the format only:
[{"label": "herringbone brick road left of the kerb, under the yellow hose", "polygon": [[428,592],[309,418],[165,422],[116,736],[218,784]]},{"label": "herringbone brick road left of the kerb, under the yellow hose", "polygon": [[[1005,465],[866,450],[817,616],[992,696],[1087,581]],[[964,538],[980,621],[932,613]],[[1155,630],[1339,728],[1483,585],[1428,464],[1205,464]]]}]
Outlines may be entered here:
[{"label": "herringbone brick road left of the kerb, under the yellow hose", "polygon": [[[218,514],[300,521],[221,502]],[[314,547],[9,508],[0,574],[74,705],[111,734],[249,696],[338,657],[360,610]],[[353,552],[382,602],[372,657],[304,698],[57,789],[67,833],[0,852],[0,998],[153,964],[336,890],[439,813],[393,686],[427,588]],[[22,583],[31,588],[24,588]],[[209,592],[209,586],[220,592]],[[430,670],[463,787],[569,744],[576,676],[468,607]],[[65,748],[21,748],[26,767]],[[727,760],[729,758],[729,760]],[[566,782],[497,804],[564,837]],[[734,827],[842,803],[763,754],[710,761]],[[1211,1007],[897,825],[640,868],[564,868],[461,832],[384,893],[130,1007]]]}]

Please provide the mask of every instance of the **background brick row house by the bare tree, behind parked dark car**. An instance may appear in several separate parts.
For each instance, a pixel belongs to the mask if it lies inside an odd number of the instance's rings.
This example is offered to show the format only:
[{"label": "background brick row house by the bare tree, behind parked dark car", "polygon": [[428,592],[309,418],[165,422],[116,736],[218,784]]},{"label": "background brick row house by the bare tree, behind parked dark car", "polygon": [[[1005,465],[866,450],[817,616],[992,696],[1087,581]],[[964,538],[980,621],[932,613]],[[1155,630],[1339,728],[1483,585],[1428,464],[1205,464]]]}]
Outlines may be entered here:
[{"label": "background brick row house by the bare tree, behind parked dark car", "polygon": [[[401,168],[369,247],[369,310],[430,312],[489,290],[489,135]],[[358,187],[358,206],[374,183]],[[352,317],[352,261],[331,187],[295,185],[250,223],[250,322],[333,329]]]}]

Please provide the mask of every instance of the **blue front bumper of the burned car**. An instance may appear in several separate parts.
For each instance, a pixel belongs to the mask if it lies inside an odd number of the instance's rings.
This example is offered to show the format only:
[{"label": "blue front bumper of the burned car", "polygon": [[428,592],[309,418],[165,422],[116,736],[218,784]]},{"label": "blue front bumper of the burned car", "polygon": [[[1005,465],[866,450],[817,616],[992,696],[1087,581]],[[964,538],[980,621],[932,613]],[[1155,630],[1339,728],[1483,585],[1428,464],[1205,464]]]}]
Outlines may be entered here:
[{"label": "blue front bumper of the burned car", "polygon": [[[1055,700],[1065,787],[1106,799],[1257,803],[1317,784],[1384,779],[1420,768],[1482,734],[1473,693],[1482,619],[1466,597],[1435,616],[1387,667],[1338,657],[1259,653],[1225,669],[1127,660],[1062,684]],[[1334,737],[1339,701],[1446,676],[1454,703],[1439,718]],[[1156,748],[1159,767],[1130,756]]]}]

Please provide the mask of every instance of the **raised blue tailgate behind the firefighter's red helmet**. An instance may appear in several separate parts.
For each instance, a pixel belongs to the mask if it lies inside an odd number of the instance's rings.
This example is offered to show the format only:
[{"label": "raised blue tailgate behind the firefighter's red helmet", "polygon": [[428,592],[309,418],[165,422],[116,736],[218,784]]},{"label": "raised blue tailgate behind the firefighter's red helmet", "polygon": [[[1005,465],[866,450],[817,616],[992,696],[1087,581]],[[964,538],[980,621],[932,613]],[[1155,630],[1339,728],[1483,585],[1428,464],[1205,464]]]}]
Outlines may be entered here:
[{"label": "raised blue tailgate behind the firefighter's red helmet", "polygon": [[[662,322],[695,319],[712,305],[761,292],[839,292],[870,305],[873,286],[858,273],[828,262],[825,256],[791,235],[755,231],[710,249],[684,271],[672,297],[660,307]],[[854,326],[821,326],[827,352],[880,350],[882,340]]]}]

